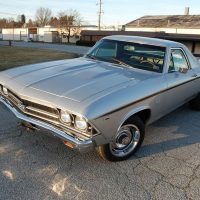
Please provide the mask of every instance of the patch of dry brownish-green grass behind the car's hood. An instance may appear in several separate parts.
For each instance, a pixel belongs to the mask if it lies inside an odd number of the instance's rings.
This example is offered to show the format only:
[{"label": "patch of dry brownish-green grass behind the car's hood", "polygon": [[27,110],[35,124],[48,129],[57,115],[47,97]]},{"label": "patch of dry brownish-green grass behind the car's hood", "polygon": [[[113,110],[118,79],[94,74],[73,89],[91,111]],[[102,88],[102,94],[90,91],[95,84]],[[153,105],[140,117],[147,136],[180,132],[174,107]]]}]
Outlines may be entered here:
[{"label": "patch of dry brownish-green grass behind the car's hood", "polygon": [[43,49],[0,46],[0,71],[51,60],[69,59],[76,54]]}]

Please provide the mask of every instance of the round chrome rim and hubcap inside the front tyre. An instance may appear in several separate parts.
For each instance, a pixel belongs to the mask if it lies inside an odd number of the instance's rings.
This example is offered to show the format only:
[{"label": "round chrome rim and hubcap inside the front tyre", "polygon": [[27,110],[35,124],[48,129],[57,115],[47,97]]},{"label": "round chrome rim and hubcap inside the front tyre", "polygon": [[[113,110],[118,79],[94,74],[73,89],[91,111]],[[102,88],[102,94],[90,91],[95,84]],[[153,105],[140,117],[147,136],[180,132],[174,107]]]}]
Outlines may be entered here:
[{"label": "round chrome rim and hubcap inside the front tyre", "polygon": [[122,126],[113,142],[110,143],[110,150],[113,155],[123,157],[131,153],[140,140],[139,128],[133,124]]}]

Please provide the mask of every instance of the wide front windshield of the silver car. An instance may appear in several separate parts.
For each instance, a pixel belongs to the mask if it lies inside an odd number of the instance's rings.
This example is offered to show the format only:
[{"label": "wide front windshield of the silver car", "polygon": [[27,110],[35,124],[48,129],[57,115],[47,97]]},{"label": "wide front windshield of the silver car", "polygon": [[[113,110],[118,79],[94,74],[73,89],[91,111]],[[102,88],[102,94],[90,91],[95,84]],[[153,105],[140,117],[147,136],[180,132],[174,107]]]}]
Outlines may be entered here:
[{"label": "wide front windshield of the silver car", "polygon": [[103,39],[86,57],[162,73],[165,51],[165,47]]}]

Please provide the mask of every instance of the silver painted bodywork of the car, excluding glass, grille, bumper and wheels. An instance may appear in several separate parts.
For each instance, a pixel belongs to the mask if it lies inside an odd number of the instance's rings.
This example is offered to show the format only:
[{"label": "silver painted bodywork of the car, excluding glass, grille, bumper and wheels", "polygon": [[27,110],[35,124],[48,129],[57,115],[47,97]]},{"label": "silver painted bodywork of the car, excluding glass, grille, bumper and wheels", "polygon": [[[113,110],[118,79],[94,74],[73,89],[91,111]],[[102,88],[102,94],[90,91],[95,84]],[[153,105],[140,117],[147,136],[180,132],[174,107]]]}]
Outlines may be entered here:
[{"label": "silver painted bodywork of the car, excluding glass, grille, bumper and wheels", "polygon": [[[82,57],[6,70],[0,73],[0,84],[22,99],[85,117],[100,132],[92,138],[93,145],[112,141],[124,121],[142,110],[150,110],[150,124],[200,92],[200,63],[184,45],[133,36],[106,39],[166,47],[163,72]],[[191,69],[186,74],[168,73],[174,48],[187,55]]]}]

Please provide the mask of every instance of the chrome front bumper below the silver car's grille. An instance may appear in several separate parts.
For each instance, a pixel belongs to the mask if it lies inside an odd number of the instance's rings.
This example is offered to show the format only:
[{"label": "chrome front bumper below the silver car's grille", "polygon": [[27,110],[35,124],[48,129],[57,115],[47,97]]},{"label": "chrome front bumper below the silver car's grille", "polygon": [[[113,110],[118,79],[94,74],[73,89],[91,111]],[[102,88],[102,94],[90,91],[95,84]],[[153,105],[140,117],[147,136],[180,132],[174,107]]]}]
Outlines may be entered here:
[{"label": "chrome front bumper below the silver car's grille", "polygon": [[12,111],[18,119],[21,119],[25,122],[34,124],[37,127],[40,127],[40,128],[50,131],[52,133],[52,135],[54,135],[55,137],[58,137],[58,138],[62,139],[63,141],[69,142],[73,146],[73,149],[78,150],[80,152],[88,152],[88,151],[94,149],[94,144],[91,139],[86,140],[86,141],[80,141],[80,140],[72,137],[71,135],[68,135],[66,132],[57,129],[53,125],[50,125],[48,123],[45,123],[45,122],[37,120],[37,119],[34,119],[32,117],[26,116],[25,114],[17,111],[13,107],[13,105],[9,102],[9,100],[5,99],[1,95],[0,95],[0,102],[2,102],[10,111]]}]

